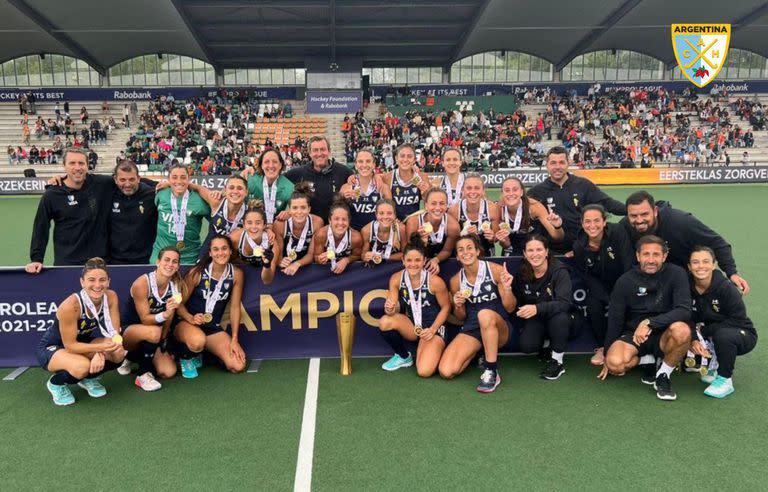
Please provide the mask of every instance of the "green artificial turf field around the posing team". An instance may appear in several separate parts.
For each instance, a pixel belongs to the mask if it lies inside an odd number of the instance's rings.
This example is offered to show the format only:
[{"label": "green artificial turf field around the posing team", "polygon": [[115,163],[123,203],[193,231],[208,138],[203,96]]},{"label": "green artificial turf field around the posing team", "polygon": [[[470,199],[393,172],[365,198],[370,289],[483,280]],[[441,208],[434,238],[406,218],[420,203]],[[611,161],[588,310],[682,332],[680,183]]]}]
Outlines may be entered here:
[{"label": "green artificial turf field around the posing team", "polygon": [[[623,199],[636,188],[608,188]],[[750,282],[749,314],[768,322],[768,186],[667,186],[650,190],[726,237]],[[1,198],[5,265],[27,261],[37,198]],[[736,393],[702,394],[676,373],[678,401],[662,402],[640,375],[606,382],[587,356],[541,380],[534,357],[499,361],[496,393],[474,391],[479,370],[453,381],[385,373],[382,359],[320,361],[309,450],[313,490],[764,490],[768,388],[764,343],[737,360]],[[104,377],[110,393],[57,408],[39,369],[0,381],[3,490],[290,490],[300,454],[308,361],[264,361],[229,375],[213,366],[193,381],[144,393],[132,378]],[[0,376],[11,369],[0,370]],[[311,419],[305,420],[305,425]],[[305,436],[306,437],[306,436]],[[305,455],[306,457],[306,455]],[[306,463],[306,462],[303,462]],[[299,487],[299,490],[306,490]]]}]

